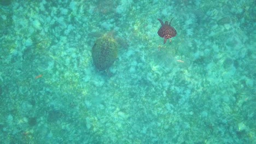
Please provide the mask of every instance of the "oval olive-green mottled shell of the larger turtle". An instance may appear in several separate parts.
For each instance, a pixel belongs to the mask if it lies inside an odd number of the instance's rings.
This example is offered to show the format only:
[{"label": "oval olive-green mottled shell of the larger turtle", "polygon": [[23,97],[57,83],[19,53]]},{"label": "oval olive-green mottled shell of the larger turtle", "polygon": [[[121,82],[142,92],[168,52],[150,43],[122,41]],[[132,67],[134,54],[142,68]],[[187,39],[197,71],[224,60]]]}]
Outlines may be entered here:
[{"label": "oval olive-green mottled shell of the larger turtle", "polygon": [[92,59],[98,70],[106,70],[118,57],[118,44],[109,35],[97,39],[91,50]]}]

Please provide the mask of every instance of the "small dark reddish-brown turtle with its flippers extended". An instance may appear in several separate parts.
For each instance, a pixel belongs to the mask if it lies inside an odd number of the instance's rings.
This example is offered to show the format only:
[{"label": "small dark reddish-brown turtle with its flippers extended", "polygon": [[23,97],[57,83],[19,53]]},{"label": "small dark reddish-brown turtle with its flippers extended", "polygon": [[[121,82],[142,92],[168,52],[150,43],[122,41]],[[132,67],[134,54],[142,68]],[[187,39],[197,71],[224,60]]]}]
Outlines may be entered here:
[{"label": "small dark reddish-brown turtle with its flippers extended", "polygon": [[[172,18],[173,19],[173,18]],[[166,43],[167,39],[170,39],[172,37],[175,37],[177,32],[174,29],[174,27],[171,26],[171,21],[168,23],[168,21],[162,22],[162,20],[158,19],[161,22],[161,27],[158,30],[158,35],[162,38],[164,38],[164,44]]]}]

